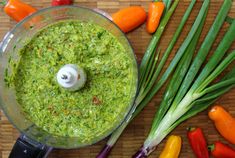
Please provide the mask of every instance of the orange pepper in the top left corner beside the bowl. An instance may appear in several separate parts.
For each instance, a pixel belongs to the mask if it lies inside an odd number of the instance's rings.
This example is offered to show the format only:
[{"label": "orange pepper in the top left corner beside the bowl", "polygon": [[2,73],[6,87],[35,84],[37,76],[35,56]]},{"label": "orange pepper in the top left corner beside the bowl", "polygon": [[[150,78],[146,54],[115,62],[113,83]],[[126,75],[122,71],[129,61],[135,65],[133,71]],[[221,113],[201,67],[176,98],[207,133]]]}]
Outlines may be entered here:
[{"label": "orange pepper in the top left corner beside the bowl", "polygon": [[32,6],[20,0],[9,0],[6,2],[3,10],[7,15],[12,17],[17,22],[37,11]]}]

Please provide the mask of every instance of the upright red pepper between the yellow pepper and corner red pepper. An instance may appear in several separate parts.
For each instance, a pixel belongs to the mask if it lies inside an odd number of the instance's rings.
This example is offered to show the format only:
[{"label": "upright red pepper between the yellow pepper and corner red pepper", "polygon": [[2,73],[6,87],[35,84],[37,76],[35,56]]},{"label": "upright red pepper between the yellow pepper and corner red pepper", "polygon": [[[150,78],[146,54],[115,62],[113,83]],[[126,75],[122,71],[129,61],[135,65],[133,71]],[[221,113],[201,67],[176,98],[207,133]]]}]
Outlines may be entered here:
[{"label": "upright red pepper between the yellow pepper and corner red pepper", "polygon": [[188,128],[188,139],[197,158],[209,158],[207,143],[201,128]]}]

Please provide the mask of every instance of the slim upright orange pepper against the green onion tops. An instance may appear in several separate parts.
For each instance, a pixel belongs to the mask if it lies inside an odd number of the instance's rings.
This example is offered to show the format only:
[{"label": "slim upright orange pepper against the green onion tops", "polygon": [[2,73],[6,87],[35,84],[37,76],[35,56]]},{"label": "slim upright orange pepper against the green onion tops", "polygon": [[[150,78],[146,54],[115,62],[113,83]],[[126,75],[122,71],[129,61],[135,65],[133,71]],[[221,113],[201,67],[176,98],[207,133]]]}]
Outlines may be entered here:
[{"label": "slim upright orange pepper against the green onion tops", "polygon": [[146,29],[148,33],[154,33],[160,23],[165,4],[163,2],[151,2],[149,4]]}]

